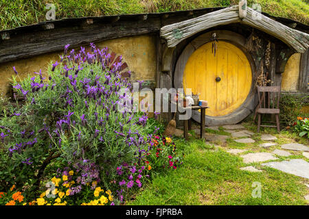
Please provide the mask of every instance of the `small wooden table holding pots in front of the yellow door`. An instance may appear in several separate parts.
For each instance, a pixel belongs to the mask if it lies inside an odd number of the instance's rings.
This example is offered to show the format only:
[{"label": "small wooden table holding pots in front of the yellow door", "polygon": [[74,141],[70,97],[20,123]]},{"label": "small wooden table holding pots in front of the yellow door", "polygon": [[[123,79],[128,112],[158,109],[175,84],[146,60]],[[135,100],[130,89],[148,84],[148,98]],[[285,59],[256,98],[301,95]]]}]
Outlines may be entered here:
[{"label": "small wooden table holding pots in front of the yellow door", "polygon": [[[174,103],[175,104],[175,103]],[[177,107],[178,106],[177,104]],[[206,116],[206,109],[209,109],[209,107],[201,107],[199,105],[192,105],[190,107],[180,107],[183,110],[201,110],[201,138],[205,138],[205,116]],[[187,140],[188,139],[188,132],[191,130],[191,118],[188,118],[187,120],[183,120],[183,137]]]}]

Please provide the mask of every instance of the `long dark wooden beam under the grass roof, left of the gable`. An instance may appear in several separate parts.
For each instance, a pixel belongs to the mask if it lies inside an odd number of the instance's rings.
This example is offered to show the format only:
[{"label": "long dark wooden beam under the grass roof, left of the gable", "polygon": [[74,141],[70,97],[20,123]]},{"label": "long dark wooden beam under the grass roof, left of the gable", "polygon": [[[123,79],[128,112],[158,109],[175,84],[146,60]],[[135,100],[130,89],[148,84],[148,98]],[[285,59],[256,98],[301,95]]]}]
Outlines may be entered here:
[{"label": "long dark wooden beam under the grass roof, left of the gable", "polygon": [[[148,20],[150,20],[148,22]],[[0,63],[23,57],[62,51],[65,44],[71,48],[124,36],[137,36],[159,31],[161,22],[158,18],[147,21],[123,21],[117,23],[93,23],[81,26],[69,25],[45,31],[33,31],[27,34],[11,35],[10,40],[0,42]],[[151,25],[150,25],[151,23]],[[56,25],[55,25],[56,26]]]}]

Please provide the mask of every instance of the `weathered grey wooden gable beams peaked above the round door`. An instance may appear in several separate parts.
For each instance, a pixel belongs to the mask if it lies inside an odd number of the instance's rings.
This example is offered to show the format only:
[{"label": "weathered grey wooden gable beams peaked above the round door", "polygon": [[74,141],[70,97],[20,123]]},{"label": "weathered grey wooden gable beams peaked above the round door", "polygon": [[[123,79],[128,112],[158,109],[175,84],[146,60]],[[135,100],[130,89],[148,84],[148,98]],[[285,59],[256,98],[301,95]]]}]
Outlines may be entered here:
[{"label": "weathered grey wooden gable beams peaked above the round door", "polygon": [[166,25],[161,28],[160,34],[168,42],[168,47],[175,47],[179,42],[198,32],[219,25],[229,25],[231,23],[242,23],[282,40],[282,42],[293,47],[295,51],[304,53],[309,47],[309,35],[292,29],[260,14],[260,18],[255,17],[255,10],[247,8],[247,16],[243,19],[239,17],[238,5],[225,8],[216,12],[211,12],[187,21]]}]

